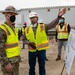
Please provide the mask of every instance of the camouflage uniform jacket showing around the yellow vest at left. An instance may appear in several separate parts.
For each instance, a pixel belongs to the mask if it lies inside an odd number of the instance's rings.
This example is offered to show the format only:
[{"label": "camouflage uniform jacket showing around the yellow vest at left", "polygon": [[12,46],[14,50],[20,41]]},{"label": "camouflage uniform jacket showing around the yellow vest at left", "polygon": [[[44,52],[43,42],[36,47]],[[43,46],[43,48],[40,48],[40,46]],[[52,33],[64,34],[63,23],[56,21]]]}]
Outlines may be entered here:
[{"label": "camouflage uniform jacket showing around the yellow vest at left", "polygon": [[7,40],[6,33],[3,29],[0,28],[0,60],[2,65],[6,65],[8,63],[16,63],[19,61],[20,56],[13,57],[8,59],[5,51],[5,42]]}]

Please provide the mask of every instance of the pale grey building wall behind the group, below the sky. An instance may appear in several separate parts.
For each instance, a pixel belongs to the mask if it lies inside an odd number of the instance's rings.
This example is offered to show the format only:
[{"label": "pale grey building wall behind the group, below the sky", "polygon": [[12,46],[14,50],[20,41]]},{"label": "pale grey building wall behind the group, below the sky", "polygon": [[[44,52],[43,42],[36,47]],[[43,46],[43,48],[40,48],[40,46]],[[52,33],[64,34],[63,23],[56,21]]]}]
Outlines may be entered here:
[{"label": "pale grey building wall behind the group, below the sky", "polygon": [[[50,11],[48,11],[48,8],[21,9],[18,11],[19,15],[17,16],[16,19],[17,27],[21,28],[25,21],[27,22],[28,25],[30,25],[29,10],[38,13],[39,19],[43,19],[44,23],[47,24],[58,16],[59,8],[51,8]],[[67,11],[67,13],[64,15],[66,22],[68,22],[71,25],[71,27],[73,27],[75,24],[74,14],[75,14],[75,8],[71,7],[70,11]],[[5,19],[0,12],[0,23],[2,23],[3,21],[5,21]]]}]

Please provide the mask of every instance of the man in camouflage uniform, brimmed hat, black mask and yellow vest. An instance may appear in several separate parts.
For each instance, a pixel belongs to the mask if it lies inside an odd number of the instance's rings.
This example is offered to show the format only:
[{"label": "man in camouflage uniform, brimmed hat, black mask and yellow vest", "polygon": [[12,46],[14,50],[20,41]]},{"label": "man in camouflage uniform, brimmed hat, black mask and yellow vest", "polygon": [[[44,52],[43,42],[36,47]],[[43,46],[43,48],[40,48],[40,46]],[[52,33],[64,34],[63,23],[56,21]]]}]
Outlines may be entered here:
[{"label": "man in camouflage uniform, brimmed hat, black mask and yellow vest", "polygon": [[16,9],[6,7],[4,14],[6,21],[0,25],[0,57],[3,75],[19,75],[20,47],[18,33],[13,27],[16,20]]}]

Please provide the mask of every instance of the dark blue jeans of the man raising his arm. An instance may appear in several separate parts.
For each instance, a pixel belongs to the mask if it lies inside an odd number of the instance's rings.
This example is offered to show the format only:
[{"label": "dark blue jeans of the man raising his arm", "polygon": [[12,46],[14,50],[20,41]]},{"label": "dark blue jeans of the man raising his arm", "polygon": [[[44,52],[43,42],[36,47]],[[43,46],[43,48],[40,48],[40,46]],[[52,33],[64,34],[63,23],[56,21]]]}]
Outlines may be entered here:
[{"label": "dark blue jeans of the man raising his arm", "polygon": [[36,75],[35,73],[36,58],[38,58],[39,75],[46,75],[45,73],[45,52],[46,50],[29,52],[29,75]]}]

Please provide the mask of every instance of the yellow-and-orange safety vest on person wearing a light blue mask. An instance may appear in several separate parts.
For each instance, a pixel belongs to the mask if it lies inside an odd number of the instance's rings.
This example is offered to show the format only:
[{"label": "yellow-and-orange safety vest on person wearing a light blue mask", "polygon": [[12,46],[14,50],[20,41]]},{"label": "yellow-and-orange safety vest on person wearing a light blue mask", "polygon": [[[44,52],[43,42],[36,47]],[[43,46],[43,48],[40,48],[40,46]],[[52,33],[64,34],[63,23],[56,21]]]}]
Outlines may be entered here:
[{"label": "yellow-and-orange safety vest on person wearing a light blue mask", "polygon": [[64,26],[62,27],[62,29],[60,28],[60,25],[56,26],[56,31],[58,33],[57,38],[58,39],[68,39],[68,24],[64,23]]}]

